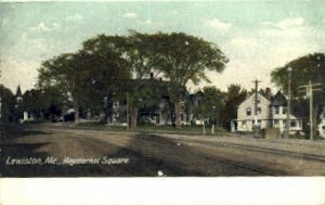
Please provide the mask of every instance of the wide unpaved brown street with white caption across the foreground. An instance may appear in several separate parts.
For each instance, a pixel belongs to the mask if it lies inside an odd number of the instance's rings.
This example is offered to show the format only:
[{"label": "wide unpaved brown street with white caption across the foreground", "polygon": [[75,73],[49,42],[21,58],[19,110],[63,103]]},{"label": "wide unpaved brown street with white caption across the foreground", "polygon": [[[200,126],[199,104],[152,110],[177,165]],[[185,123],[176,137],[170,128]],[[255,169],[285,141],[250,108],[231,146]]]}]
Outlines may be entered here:
[{"label": "wide unpaved brown street with white caption across the foreground", "polygon": [[325,143],[1,127],[2,177],[324,176]]}]

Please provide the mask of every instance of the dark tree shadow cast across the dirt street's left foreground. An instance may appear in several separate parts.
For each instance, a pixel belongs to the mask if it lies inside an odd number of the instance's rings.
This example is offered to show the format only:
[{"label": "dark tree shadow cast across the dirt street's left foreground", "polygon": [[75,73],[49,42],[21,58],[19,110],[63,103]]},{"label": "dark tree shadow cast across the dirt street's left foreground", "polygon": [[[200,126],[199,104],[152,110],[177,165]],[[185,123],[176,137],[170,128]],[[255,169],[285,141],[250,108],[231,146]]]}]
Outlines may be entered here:
[{"label": "dark tree shadow cast across the dirt street's left foreground", "polygon": [[[18,131],[18,134],[14,137],[26,136],[24,130],[22,131]],[[39,132],[42,133],[42,131]],[[35,133],[38,134],[37,131]],[[82,144],[78,149],[100,151],[99,162],[93,164],[63,164],[63,157],[58,158],[56,164],[8,165],[9,157],[41,158],[42,162],[52,157],[51,153],[39,152],[41,148],[50,145],[51,142],[32,143],[32,138],[30,138],[30,143],[15,143],[14,140],[9,140],[0,145],[4,150],[0,157],[2,177],[256,176],[256,174],[238,171],[234,167],[218,164],[218,161],[212,156],[207,156],[188,145],[180,144],[173,139],[156,134],[134,134],[125,145],[92,137],[74,139]],[[89,158],[91,156],[83,157]],[[127,163],[107,163],[120,158],[127,159]]]}]

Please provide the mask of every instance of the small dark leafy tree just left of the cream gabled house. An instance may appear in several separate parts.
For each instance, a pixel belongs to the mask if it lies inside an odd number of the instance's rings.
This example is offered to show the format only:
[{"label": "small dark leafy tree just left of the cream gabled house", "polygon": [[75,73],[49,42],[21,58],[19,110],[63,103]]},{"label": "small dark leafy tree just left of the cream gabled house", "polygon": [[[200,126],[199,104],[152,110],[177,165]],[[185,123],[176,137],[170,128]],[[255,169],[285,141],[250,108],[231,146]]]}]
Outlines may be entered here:
[{"label": "small dark leafy tree just left of the cream gabled house", "polygon": [[220,113],[224,107],[225,93],[216,87],[205,87],[200,103],[195,107],[195,117],[208,119],[209,124],[220,123]]}]

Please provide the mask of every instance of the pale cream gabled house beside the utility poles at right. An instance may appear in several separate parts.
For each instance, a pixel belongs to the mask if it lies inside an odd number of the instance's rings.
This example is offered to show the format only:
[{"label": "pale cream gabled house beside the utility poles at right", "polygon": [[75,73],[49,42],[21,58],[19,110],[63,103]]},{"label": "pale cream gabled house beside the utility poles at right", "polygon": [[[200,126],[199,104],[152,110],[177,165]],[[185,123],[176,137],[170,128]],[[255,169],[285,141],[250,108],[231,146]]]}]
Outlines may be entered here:
[{"label": "pale cream gabled house beside the utility poles at right", "polygon": [[[284,94],[278,91],[274,97],[259,92],[249,95],[237,107],[237,119],[231,123],[232,131],[249,132],[255,127],[259,129],[278,128],[281,133],[285,131],[287,118],[287,101]],[[257,110],[256,107],[257,103]],[[289,131],[296,133],[302,131],[302,120],[290,115]]]}]

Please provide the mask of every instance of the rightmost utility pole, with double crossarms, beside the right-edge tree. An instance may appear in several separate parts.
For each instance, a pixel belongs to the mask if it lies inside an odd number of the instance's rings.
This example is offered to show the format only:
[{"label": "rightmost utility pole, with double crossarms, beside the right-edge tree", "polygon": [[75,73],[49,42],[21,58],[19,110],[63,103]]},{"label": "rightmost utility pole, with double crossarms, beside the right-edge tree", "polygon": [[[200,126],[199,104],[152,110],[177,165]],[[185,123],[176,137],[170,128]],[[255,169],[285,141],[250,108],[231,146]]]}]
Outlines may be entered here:
[{"label": "rightmost utility pole, with double crossarms, beside the right-edge tree", "polygon": [[316,86],[321,86],[321,84],[312,84],[312,81],[309,80],[308,85],[299,87],[299,88],[306,88],[306,95],[309,98],[310,140],[313,140],[313,92],[321,90],[318,88],[313,88]]}]

